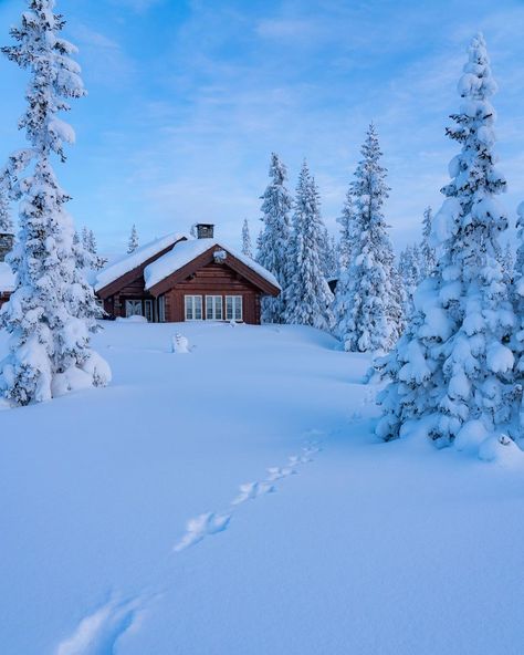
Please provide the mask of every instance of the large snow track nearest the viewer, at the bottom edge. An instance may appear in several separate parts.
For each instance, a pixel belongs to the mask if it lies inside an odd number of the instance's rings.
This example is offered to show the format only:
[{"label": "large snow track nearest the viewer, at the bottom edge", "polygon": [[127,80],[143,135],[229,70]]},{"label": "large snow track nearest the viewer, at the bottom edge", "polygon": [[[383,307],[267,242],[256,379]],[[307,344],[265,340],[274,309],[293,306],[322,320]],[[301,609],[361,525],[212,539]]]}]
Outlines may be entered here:
[{"label": "large snow track nearest the viewer, at the bottom edge", "polygon": [[109,601],[84,617],[75,632],[59,644],[56,655],[113,655],[117,641],[135,623],[142,599]]}]

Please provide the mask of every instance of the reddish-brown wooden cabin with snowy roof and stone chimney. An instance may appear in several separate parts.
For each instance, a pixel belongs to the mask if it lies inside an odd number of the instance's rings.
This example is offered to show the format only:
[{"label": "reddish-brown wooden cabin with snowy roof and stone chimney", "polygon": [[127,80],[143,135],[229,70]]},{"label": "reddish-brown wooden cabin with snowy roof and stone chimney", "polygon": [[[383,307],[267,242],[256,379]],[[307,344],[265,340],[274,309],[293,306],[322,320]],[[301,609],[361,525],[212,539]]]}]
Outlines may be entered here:
[{"label": "reddish-brown wooden cabin with snowy roof and stone chimney", "polygon": [[261,299],[281,291],[276,279],[217,241],[212,225],[199,223],[197,235],[168,235],[101,271],[95,292],[106,313],[160,323],[259,324]]}]

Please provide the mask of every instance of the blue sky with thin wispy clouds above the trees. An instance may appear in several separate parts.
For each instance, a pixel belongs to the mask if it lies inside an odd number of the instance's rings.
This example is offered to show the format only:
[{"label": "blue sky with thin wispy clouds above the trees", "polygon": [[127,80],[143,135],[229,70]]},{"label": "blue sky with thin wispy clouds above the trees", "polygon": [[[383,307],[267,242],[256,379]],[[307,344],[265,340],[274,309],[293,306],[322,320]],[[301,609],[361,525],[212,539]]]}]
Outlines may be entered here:
[{"label": "blue sky with thin wispy clouds above the trees", "polygon": [[[0,0],[1,43],[23,8]],[[500,85],[510,216],[524,199],[521,1],[57,0],[57,10],[90,94],[74,103],[77,144],[56,168],[77,226],[93,228],[102,250],[122,249],[133,222],[143,241],[205,220],[238,243],[248,218],[254,238],[271,150],[292,189],[308,159],[334,231],[371,119],[389,169],[394,242],[418,239],[457,152],[444,127],[479,30]],[[24,144],[25,83],[0,61],[4,156]]]}]

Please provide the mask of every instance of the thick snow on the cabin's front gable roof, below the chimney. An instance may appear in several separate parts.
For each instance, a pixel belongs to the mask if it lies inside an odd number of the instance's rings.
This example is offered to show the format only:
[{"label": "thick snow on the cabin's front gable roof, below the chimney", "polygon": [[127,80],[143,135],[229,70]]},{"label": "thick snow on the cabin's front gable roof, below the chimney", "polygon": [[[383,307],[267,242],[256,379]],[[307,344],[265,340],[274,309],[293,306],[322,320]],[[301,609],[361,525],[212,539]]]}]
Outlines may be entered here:
[{"label": "thick snow on the cabin's front gable roof, below the chimney", "polygon": [[155,287],[155,284],[158,284],[158,282],[180,270],[195,258],[203,254],[207,250],[213,248],[214,246],[218,246],[219,248],[222,248],[232,254],[235,259],[240,260],[261,278],[270,282],[270,284],[276,287],[276,289],[281,288],[276,281],[276,278],[263,267],[253,261],[250,257],[241,254],[240,252],[223,246],[216,239],[189,239],[187,241],[180,241],[180,243],[177,243],[172,250],[145,268],[144,279],[146,282],[146,289]]}]

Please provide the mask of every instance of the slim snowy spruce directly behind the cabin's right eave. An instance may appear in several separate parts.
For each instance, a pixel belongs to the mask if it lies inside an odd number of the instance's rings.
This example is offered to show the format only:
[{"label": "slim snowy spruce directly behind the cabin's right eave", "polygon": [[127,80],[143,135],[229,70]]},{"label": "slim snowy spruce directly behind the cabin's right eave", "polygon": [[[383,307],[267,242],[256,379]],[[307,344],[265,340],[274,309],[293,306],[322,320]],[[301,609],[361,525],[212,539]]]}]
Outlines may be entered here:
[{"label": "slim snowy spruce directly behind the cabin's right eave", "polygon": [[262,230],[256,239],[256,261],[269,270],[282,287],[277,298],[262,299],[262,322],[283,323],[289,285],[290,212],[293,198],[286,188],[287,171],[279,155],[271,155],[271,181],[261,196]]}]

